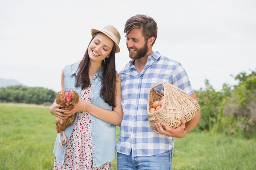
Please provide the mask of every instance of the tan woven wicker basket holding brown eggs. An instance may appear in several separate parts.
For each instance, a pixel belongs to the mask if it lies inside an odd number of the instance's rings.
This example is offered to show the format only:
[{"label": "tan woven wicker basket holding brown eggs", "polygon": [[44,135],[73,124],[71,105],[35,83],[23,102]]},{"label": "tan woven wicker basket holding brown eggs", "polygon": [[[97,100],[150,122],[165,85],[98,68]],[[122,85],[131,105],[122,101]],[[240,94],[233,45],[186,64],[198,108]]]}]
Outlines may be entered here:
[{"label": "tan woven wicker basket holding brown eggs", "polygon": [[[160,101],[161,95],[155,88],[159,85],[164,86],[164,102],[159,110],[149,113],[152,103]],[[181,118],[184,121],[190,121],[199,113],[200,107],[198,102],[191,96],[187,95],[182,89],[170,84],[162,82],[153,86],[148,93],[148,124],[153,130],[156,130],[155,123],[165,123],[170,128],[176,128],[181,125]]]}]

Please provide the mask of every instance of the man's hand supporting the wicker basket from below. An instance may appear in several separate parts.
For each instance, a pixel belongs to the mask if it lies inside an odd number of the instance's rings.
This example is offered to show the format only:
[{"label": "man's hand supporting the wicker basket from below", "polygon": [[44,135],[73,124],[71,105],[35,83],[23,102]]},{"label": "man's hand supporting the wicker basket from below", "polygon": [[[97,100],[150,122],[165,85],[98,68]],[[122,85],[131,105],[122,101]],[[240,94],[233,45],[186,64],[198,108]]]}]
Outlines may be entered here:
[{"label": "man's hand supporting the wicker basket from below", "polygon": [[181,118],[181,125],[177,128],[169,128],[164,123],[162,123],[162,125],[160,123],[155,123],[155,128],[157,130],[154,130],[154,132],[160,135],[166,135],[168,137],[181,138],[186,135],[185,124],[186,123],[183,118]]}]

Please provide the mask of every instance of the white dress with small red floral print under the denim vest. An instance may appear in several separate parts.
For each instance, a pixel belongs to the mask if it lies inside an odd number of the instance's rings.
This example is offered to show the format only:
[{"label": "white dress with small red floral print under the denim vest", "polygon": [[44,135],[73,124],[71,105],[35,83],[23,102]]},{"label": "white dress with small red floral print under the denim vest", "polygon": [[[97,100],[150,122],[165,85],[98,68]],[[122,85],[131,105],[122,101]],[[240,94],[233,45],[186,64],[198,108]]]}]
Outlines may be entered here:
[{"label": "white dress with small red floral print under the denim vest", "polygon": [[[81,90],[81,99],[91,102],[91,86]],[[111,162],[92,167],[92,128],[90,114],[78,113],[77,122],[67,141],[64,163],[54,159],[53,170],[110,170]]]}]

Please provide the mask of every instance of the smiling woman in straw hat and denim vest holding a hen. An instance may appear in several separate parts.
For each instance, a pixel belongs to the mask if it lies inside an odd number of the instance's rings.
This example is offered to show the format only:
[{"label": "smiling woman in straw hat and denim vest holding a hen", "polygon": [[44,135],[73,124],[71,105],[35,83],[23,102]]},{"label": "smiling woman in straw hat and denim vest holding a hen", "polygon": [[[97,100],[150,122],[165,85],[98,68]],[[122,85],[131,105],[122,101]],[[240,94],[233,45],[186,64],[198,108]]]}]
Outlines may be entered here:
[{"label": "smiling woman in straw hat and denim vest holding a hen", "polygon": [[65,66],[61,76],[62,89],[78,92],[79,102],[72,110],[59,109],[56,100],[50,107],[50,112],[61,119],[76,114],[73,124],[65,129],[64,151],[58,148],[57,136],[54,170],[110,170],[115,158],[116,126],[123,119],[121,78],[115,70],[121,37],[114,26],[92,29],[91,33],[81,62]]}]

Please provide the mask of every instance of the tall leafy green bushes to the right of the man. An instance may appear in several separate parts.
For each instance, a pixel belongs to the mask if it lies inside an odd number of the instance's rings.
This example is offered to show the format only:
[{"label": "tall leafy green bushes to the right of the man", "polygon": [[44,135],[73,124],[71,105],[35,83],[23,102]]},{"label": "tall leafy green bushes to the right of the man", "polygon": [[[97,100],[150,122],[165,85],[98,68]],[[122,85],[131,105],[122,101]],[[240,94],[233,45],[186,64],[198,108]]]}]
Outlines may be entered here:
[{"label": "tall leafy green bushes to the right of the man", "polygon": [[205,89],[196,92],[201,110],[196,129],[256,137],[256,71],[233,77],[237,85],[223,84],[222,90],[216,91],[205,80]]}]

